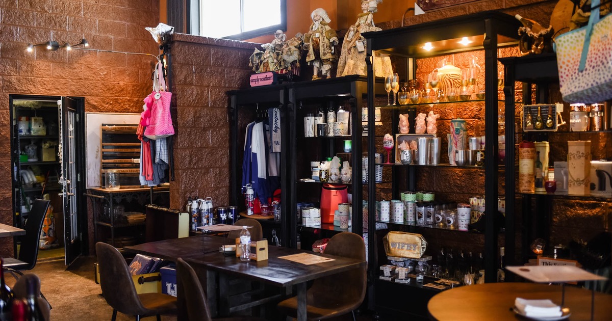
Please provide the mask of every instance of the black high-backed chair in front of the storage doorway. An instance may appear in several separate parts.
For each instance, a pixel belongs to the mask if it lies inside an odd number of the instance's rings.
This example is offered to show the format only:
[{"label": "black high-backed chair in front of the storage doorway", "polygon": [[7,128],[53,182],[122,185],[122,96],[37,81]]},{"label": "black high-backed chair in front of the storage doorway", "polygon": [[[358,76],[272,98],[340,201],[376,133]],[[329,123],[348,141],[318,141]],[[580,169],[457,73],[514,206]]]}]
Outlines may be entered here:
[{"label": "black high-backed chair in front of the storage doorway", "polygon": [[21,271],[32,270],[36,265],[40,231],[42,231],[42,223],[45,220],[49,203],[47,199],[34,199],[24,227],[26,234],[20,240],[21,246],[17,259],[12,257],[4,259],[4,269],[15,279],[18,279],[15,274],[23,275]]}]

